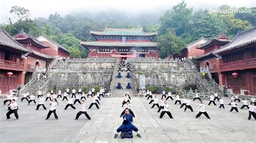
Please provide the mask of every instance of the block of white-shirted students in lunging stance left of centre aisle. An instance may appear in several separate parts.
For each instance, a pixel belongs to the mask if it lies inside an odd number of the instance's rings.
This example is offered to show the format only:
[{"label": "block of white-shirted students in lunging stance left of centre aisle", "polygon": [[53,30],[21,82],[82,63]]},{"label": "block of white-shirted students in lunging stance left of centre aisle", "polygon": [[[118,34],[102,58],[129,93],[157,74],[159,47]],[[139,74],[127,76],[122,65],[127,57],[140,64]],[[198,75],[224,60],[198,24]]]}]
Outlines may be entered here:
[{"label": "block of white-shirted students in lunging stance left of centre aisle", "polygon": [[[29,93],[29,92],[24,92],[21,98],[21,102],[24,102],[24,99],[26,100],[26,102],[28,102],[28,105],[30,105],[31,102],[35,103],[36,106],[36,110],[39,110],[40,106],[43,106],[43,109],[46,110],[46,106],[45,103],[48,101],[49,99],[49,104],[51,105],[51,108],[48,112],[48,115],[46,116],[45,120],[48,120],[51,116],[51,114],[53,113],[53,115],[55,116],[55,119],[59,119],[57,116],[57,106],[58,106],[58,102],[57,102],[57,98],[62,98],[63,95],[63,99],[62,101],[67,101],[68,104],[66,104],[64,110],[68,109],[69,106],[71,106],[72,109],[76,109],[76,107],[74,106],[76,103],[80,104],[80,111],[77,113],[77,116],[75,118],[78,119],[80,115],[84,114],[87,119],[91,119],[90,116],[87,114],[86,110],[85,110],[85,101],[86,101],[86,97],[84,92],[82,92],[82,89],[78,89],[78,92],[76,91],[75,88],[73,88],[71,90],[72,95],[70,95],[69,93],[69,88],[65,89],[65,92],[62,93],[62,90],[58,90],[58,95],[51,90],[50,92],[48,92],[45,96],[46,98],[44,98],[44,95],[42,94],[42,91],[38,91],[38,104],[36,102],[36,96],[34,95],[34,93]],[[69,96],[69,98],[67,98],[66,96]],[[81,95],[81,98],[79,98],[79,95]],[[109,92],[106,94],[105,93],[105,89],[100,89],[99,92],[97,92],[97,94],[95,94],[95,89],[92,88],[92,90],[90,90],[87,94],[87,98],[89,98],[89,96],[92,97],[91,99],[91,104],[89,106],[88,109],[91,109],[93,105],[96,105],[97,109],[99,109],[98,104],[100,100],[100,96],[104,97],[104,95],[109,96]],[[73,97],[75,98],[75,100],[73,100]],[[6,113],[6,119],[10,119],[10,115],[12,113],[14,113],[16,119],[19,119],[18,116],[18,105],[17,105],[17,101],[18,98],[16,97],[16,93],[15,91],[9,92],[8,95],[6,95],[6,99],[4,100],[4,105],[6,105],[8,102],[9,104],[7,104],[8,107],[8,112]],[[98,104],[97,104],[98,103]]]}]

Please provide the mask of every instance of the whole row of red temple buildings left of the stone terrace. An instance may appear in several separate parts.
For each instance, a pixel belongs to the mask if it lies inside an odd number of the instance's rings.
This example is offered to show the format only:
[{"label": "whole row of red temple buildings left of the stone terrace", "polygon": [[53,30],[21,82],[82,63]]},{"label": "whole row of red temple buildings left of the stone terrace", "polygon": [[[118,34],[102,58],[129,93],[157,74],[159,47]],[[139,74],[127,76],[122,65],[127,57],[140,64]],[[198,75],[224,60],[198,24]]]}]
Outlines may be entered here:
[{"label": "whole row of red temple buildings left of the stone terrace", "polygon": [[[68,49],[41,35],[38,38],[19,32],[12,38],[0,30],[0,95],[28,83],[56,56],[69,56]],[[8,75],[12,74],[12,75]]]}]

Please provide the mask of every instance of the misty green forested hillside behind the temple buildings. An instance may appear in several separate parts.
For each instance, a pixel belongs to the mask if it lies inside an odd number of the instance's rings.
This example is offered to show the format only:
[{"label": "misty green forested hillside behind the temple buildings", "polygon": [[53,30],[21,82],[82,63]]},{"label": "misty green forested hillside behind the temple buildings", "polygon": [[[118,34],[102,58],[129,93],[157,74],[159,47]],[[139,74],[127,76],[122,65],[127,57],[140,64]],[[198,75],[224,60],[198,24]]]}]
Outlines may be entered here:
[{"label": "misty green forested hillside behind the temple buildings", "polygon": [[0,27],[12,36],[21,30],[34,37],[45,34],[69,49],[71,58],[87,57],[88,51],[80,45],[80,40],[95,40],[89,33],[90,30],[143,27],[145,32],[158,32],[154,41],[158,44],[160,58],[165,58],[202,36],[210,39],[223,33],[234,38],[237,33],[256,26],[255,7],[231,8],[222,5],[219,9],[248,9],[251,13],[208,13],[207,9],[196,11],[181,1],[163,13],[144,13],[133,17],[116,11],[97,14],[84,12],[65,17],[56,12],[48,18],[30,19],[28,9],[12,6],[10,13],[16,19],[9,18],[8,24]]}]

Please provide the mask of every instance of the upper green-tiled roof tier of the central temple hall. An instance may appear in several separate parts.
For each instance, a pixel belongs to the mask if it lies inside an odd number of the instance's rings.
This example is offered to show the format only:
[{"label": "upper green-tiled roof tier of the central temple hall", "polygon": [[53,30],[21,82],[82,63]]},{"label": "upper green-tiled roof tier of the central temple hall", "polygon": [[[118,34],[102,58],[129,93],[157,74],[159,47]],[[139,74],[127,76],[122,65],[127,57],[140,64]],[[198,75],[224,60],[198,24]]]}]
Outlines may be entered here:
[{"label": "upper green-tiled roof tier of the central temple hall", "polygon": [[138,29],[121,29],[121,28],[105,28],[102,32],[90,31],[94,35],[139,35],[139,36],[156,36],[157,32],[144,32],[143,28]]}]

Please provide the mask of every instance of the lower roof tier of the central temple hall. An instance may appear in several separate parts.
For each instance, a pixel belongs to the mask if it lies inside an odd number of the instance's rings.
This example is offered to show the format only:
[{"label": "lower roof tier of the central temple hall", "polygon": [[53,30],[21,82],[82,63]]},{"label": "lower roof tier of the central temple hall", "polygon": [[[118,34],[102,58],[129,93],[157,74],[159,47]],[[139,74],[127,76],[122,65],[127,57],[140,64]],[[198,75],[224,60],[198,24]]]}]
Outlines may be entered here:
[{"label": "lower roof tier of the central temple hall", "polygon": [[81,41],[83,46],[98,46],[98,47],[157,47],[156,42],[85,42]]}]

